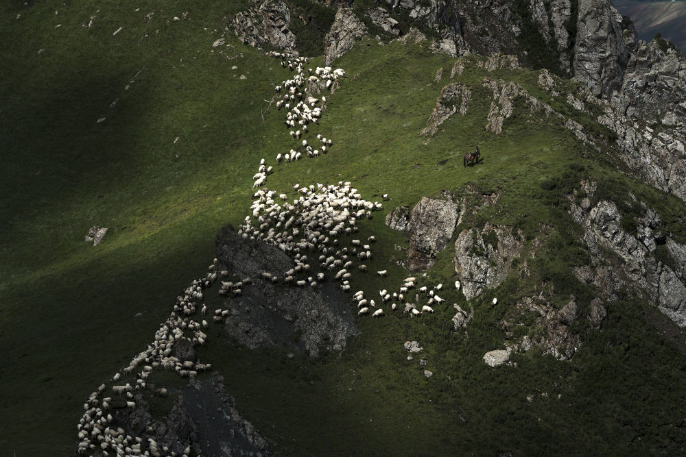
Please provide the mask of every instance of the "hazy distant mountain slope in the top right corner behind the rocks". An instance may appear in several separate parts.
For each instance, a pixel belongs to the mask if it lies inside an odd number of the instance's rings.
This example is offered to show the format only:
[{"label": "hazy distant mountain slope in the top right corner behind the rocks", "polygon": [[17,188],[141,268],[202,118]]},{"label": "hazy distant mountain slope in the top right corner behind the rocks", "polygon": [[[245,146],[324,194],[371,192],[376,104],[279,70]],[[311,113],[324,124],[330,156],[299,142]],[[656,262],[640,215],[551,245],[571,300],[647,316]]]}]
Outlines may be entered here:
[{"label": "hazy distant mountain slope in the top right corner behind the rocks", "polygon": [[655,34],[673,42],[686,53],[686,1],[613,1],[615,8],[629,16],[641,40]]}]

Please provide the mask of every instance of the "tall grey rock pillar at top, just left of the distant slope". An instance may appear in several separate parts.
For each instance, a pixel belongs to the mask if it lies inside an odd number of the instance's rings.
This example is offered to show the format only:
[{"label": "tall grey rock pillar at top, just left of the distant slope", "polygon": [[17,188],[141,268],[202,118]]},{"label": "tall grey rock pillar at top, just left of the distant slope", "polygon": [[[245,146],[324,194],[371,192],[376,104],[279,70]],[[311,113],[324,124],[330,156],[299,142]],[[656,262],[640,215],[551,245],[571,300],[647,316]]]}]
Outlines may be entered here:
[{"label": "tall grey rock pillar at top, just left of the distant slope", "polygon": [[622,30],[622,15],[609,0],[579,0],[574,78],[593,95],[622,88],[633,43],[632,30]]}]

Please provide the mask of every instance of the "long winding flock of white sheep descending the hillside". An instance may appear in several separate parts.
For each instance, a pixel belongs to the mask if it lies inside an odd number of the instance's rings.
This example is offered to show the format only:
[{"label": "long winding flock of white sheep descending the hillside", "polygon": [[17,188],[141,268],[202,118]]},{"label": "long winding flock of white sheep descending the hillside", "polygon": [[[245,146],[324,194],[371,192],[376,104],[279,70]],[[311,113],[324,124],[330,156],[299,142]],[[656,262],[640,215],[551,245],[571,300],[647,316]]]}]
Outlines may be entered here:
[{"label": "long winding flock of white sheep descending the hillside", "polygon": [[[309,76],[305,77],[303,64],[307,58],[294,58],[288,60],[285,55],[272,53],[276,57],[284,58],[282,66],[296,71],[292,79],[287,79],[281,86],[276,86],[277,93],[283,92],[283,99],[276,103],[276,108],[288,110],[285,123],[292,127],[290,135],[300,141],[308,132],[308,125],[316,124],[322,115],[326,98],[316,99],[309,95],[308,88],[312,84],[320,84],[324,81],[326,88],[336,79],[344,77],[342,69],[333,70],[329,67],[312,71],[308,70]],[[320,106],[318,106],[320,103]],[[314,149],[303,139],[297,149],[291,149],[288,153],[276,156],[276,163],[292,162],[298,160],[303,153],[315,158],[325,154],[333,143],[331,139],[317,135],[320,145]],[[375,237],[370,236],[366,240],[355,238],[358,232],[358,221],[371,219],[372,212],[381,210],[382,204],[377,201],[367,201],[355,189],[351,182],[338,182],[338,184],[316,184],[309,186],[293,186],[296,198],[289,201],[287,194],[276,193],[265,188],[267,176],[274,171],[273,166],[267,166],[262,159],[259,171],[254,175],[253,188],[257,192],[253,195],[252,217],[247,216],[239,225],[239,234],[246,239],[262,240],[281,249],[293,259],[293,267],[287,271],[263,271],[255,278],[228,278],[228,271],[220,271],[217,259],[209,266],[208,272],[203,277],[193,280],[176,298],[176,303],[167,320],[161,323],[155,333],[154,341],[147,345],[134,357],[127,367],[116,373],[110,387],[113,397],[105,397],[106,384],[102,384],[96,391],[91,393],[84,404],[84,414],[78,424],[78,453],[97,454],[108,456],[176,456],[171,449],[158,445],[154,439],[148,437],[143,440],[140,437],[132,437],[121,427],[113,424],[111,410],[114,406],[134,408],[134,394],[141,390],[150,390],[154,395],[165,396],[165,388],[156,388],[148,381],[153,371],[165,369],[175,371],[184,378],[194,378],[202,371],[211,369],[210,364],[201,363],[199,360],[191,362],[180,360],[174,356],[174,346],[180,341],[189,341],[192,345],[204,345],[207,335],[203,332],[209,327],[206,319],[208,309],[203,304],[204,293],[217,280],[221,282],[219,293],[222,296],[236,297],[241,295],[244,288],[254,281],[270,281],[285,286],[315,287],[318,282],[327,280],[327,275],[333,280],[340,282],[340,288],[344,293],[351,291],[353,272],[364,274],[368,271],[368,262],[372,262],[372,245]],[[388,199],[388,195],[383,195]],[[313,267],[314,265],[314,267]],[[319,270],[315,273],[315,270]],[[385,277],[387,270],[377,271],[377,275]],[[224,281],[226,279],[226,281]],[[228,281],[229,279],[234,279]],[[392,310],[400,306],[403,312],[410,316],[419,316],[424,312],[434,312],[431,305],[440,304],[444,301],[438,296],[442,284],[431,288],[422,286],[414,291],[414,301],[410,299],[410,290],[416,287],[416,277],[407,277],[400,286],[393,290],[383,289],[379,291],[379,305],[390,302]],[[455,283],[460,288],[460,283]],[[407,298],[407,299],[406,299]],[[377,308],[375,299],[365,296],[364,291],[353,294],[352,300],[357,304],[357,314],[363,316],[371,314],[372,317],[383,316],[383,309]],[[423,301],[421,309],[419,302]],[[197,317],[198,311],[201,316]],[[222,323],[230,310],[217,309],[213,312],[212,321]],[[135,376],[135,382],[132,380]],[[121,381],[122,377],[130,379],[129,382]],[[125,402],[125,403],[124,403]],[[152,432],[148,428],[147,432]],[[189,456],[190,447],[182,453]]]}]

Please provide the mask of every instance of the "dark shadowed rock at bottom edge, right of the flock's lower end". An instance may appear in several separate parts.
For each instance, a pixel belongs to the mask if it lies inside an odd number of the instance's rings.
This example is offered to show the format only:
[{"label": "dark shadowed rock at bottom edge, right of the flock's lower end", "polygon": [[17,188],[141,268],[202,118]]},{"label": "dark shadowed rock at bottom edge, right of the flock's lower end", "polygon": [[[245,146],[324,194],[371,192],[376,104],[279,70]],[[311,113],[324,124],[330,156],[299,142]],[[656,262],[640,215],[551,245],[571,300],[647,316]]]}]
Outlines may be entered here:
[{"label": "dark shadowed rock at bottom edge, right of the flock's lower end", "polygon": [[267,441],[241,417],[233,397],[224,391],[222,376],[191,380],[185,387],[171,389],[171,395],[176,399],[164,417],[153,417],[148,403],[137,394],[135,408],[115,410],[112,425],[141,437],[144,450],[152,450],[147,439],[153,439],[158,449],[167,447],[176,455],[187,447],[194,455],[270,454]]}]

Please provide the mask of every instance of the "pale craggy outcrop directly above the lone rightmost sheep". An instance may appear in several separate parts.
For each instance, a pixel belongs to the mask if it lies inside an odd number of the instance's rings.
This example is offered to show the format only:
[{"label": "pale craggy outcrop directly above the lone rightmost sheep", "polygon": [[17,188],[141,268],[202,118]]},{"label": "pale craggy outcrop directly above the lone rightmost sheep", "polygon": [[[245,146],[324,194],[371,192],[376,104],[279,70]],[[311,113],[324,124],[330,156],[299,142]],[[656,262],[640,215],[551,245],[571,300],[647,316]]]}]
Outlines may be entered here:
[{"label": "pale craggy outcrop directly above the lone rightmost sheep", "polygon": [[511,227],[486,224],[484,230],[462,230],[455,241],[455,271],[466,299],[498,286],[524,243]]}]

